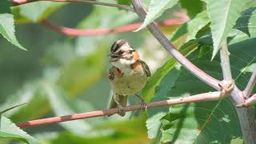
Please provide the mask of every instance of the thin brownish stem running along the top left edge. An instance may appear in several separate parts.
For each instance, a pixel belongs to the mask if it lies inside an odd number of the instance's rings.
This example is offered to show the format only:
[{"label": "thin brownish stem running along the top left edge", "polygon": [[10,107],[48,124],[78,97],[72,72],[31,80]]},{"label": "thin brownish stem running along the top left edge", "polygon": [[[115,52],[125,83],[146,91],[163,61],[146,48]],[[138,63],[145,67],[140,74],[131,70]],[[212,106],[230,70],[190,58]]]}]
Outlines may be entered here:
[{"label": "thin brownish stem running along the top left edge", "polygon": [[112,6],[112,7],[118,7],[120,9],[125,9],[134,12],[134,8],[126,5],[118,5],[114,3],[107,3],[107,2],[96,2],[96,1],[90,1],[90,0],[11,0],[13,6],[18,6],[30,2],[38,2],[38,1],[47,1],[47,2],[79,2],[79,3],[89,3],[93,5],[102,5],[102,6]]}]

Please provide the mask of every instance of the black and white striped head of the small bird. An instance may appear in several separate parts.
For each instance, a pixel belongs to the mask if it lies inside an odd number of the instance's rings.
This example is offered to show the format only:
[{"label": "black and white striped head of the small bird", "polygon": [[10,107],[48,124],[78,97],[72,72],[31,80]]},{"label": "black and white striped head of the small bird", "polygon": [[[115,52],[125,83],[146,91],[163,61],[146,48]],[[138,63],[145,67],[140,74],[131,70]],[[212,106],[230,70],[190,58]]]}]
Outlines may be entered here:
[{"label": "black and white striped head of the small bird", "polygon": [[138,60],[138,53],[134,50],[126,40],[118,40],[114,42],[110,50],[110,62],[117,66],[131,65]]}]

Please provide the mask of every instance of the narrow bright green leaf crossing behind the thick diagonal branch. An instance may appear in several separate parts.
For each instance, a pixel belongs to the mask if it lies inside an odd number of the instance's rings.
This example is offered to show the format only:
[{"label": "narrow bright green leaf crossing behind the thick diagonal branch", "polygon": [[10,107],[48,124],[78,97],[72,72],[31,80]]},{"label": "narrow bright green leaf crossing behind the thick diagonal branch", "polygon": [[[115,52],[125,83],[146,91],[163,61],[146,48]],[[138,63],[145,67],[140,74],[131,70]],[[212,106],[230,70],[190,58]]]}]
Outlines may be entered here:
[{"label": "narrow bright green leaf crossing behind the thick diagonal branch", "polygon": [[[180,52],[183,55],[189,55],[194,50],[198,48],[198,42],[196,40],[191,40],[187,42],[180,48]],[[174,58],[170,58],[163,66],[158,68],[158,70],[153,74],[152,77],[146,82],[146,86],[142,89],[142,97],[146,102],[150,102],[154,94],[154,87],[158,86],[161,79],[177,64]]]}]

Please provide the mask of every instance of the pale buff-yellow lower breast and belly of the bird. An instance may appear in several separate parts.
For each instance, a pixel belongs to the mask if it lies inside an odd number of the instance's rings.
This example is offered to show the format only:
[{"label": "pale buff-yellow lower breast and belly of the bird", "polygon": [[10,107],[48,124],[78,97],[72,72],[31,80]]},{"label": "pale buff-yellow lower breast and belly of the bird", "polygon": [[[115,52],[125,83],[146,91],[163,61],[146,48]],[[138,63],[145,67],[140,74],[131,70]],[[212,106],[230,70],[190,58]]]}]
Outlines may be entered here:
[{"label": "pale buff-yellow lower breast and belly of the bird", "polygon": [[111,82],[115,94],[133,95],[146,85],[146,74],[143,70],[134,74],[123,74],[121,78],[114,78]]}]

